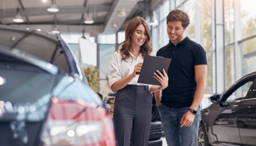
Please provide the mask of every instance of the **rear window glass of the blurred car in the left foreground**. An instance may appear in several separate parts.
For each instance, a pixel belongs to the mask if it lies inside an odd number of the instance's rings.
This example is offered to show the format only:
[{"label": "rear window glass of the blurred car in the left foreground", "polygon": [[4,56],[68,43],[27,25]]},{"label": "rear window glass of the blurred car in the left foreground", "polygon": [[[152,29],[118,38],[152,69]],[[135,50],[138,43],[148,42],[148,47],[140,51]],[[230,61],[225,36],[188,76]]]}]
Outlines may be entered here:
[{"label": "rear window glass of the blurred car in the left foreground", "polygon": [[24,54],[34,55],[65,72],[70,72],[62,47],[53,34],[38,30],[0,27],[0,46],[4,46],[5,49],[18,49]]}]

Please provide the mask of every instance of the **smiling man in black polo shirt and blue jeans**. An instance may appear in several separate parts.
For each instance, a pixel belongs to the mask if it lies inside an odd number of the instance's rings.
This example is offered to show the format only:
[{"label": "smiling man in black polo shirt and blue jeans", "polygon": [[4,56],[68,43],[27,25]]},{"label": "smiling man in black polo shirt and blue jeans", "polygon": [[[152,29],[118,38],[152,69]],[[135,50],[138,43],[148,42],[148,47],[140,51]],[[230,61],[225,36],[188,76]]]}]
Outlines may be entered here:
[{"label": "smiling man in black polo shirt and blue jeans", "polygon": [[166,17],[169,44],[157,56],[172,58],[169,84],[155,92],[158,109],[169,146],[196,146],[201,121],[199,104],[206,89],[207,58],[200,44],[183,36],[190,24],[187,13],[172,10]]}]

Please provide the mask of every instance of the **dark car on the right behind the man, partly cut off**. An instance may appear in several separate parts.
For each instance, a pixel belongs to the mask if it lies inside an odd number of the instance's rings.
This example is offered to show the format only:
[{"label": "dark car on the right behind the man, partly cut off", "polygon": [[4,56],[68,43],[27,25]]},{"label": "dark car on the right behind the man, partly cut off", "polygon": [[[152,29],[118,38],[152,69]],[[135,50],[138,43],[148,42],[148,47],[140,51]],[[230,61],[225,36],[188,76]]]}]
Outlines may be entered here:
[{"label": "dark car on the right behind the man, partly cut off", "polygon": [[238,80],[202,109],[199,145],[256,145],[256,72]]}]

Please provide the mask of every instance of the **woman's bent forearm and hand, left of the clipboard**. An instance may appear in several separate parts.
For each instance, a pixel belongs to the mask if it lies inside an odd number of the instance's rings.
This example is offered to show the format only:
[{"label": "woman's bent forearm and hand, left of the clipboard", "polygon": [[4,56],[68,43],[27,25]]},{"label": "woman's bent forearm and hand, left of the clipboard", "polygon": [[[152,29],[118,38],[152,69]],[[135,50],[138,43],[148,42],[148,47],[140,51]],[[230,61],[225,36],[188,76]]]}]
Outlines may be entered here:
[{"label": "woman's bent forearm and hand, left of the clipboard", "polygon": [[142,63],[138,63],[134,66],[134,70],[132,72],[132,74],[127,75],[127,77],[124,77],[118,81],[116,81],[115,83],[113,83],[113,85],[111,86],[111,90],[113,92],[116,92],[120,89],[123,89],[134,77],[137,76],[136,72],[140,72],[141,71],[141,66]]}]

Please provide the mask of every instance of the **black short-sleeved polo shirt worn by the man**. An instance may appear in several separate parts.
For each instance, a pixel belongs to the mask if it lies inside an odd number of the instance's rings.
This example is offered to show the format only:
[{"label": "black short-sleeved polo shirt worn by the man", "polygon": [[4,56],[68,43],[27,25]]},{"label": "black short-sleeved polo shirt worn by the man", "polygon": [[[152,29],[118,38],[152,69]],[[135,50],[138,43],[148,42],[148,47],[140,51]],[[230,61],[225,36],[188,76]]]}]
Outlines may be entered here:
[{"label": "black short-sleeved polo shirt worn by the man", "polygon": [[207,64],[204,48],[186,37],[176,46],[169,41],[157,51],[157,56],[172,58],[168,87],[162,92],[161,102],[171,108],[191,106],[196,91],[194,66]]}]

